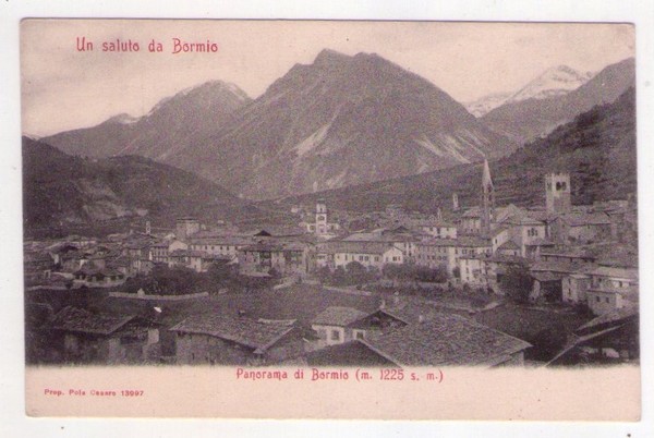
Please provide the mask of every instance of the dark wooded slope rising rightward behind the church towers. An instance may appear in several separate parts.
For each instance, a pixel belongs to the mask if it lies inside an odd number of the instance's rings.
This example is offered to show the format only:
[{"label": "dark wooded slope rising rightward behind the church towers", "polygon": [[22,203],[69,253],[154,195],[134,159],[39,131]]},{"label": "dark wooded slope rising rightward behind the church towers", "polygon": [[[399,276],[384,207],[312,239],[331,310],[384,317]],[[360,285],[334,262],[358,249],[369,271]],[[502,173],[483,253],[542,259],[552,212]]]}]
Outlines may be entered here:
[{"label": "dark wooded slope rising rightward behind the church towers", "polygon": [[[573,204],[623,199],[637,191],[635,153],[635,92],[631,87],[614,102],[596,106],[545,138],[492,161],[497,204],[544,206],[544,175],[553,171],[570,172]],[[288,209],[322,198],[332,208],[351,211],[383,210],[397,204],[408,210],[436,212],[439,206],[451,209],[455,192],[462,207],[477,205],[481,179],[481,163],[470,163],[263,206]]]}]

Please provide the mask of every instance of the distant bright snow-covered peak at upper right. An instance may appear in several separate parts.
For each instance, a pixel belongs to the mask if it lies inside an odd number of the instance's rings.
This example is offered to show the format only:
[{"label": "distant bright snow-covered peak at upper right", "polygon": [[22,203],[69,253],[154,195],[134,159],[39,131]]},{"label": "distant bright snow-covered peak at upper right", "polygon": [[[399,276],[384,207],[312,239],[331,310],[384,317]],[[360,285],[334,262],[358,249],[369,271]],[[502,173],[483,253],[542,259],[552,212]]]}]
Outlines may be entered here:
[{"label": "distant bright snow-covered peak at upper right", "polygon": [[538,77],[526,84],[518,93],[509,97],[506,104],[562,96],[589,82],[593,75],[592,72],[578,72],[567,65],[557,65],[546,70]]}]

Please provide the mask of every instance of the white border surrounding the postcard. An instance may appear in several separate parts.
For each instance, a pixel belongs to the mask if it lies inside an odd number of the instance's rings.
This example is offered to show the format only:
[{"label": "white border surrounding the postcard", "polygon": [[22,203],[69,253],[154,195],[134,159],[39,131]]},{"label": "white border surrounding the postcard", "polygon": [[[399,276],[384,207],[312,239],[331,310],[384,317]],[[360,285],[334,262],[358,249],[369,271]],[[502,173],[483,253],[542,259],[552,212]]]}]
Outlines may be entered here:
[{"label": "white border surrounding the postcard", "polygon": [[[268,1],[19,1],[0,0],[0,435],[1,436],[401,436],[644,437],[652,436],[654,385],[652,247],[654,208],[654,2],[650,0],[469,0],[415,2]],[[19,22],[23,17],[189,17],[628,22],[637,25],[642,421],[640,423],[353,422],[28,418],[24,414],[21,125]],[[649,348],[647,348],[649,346]],[[628,435],[630,434],[630,435]]]}]

